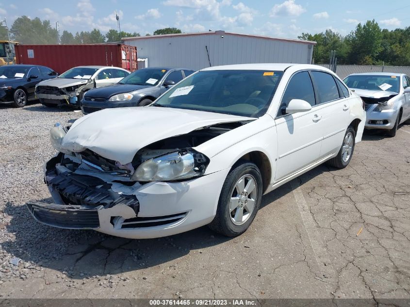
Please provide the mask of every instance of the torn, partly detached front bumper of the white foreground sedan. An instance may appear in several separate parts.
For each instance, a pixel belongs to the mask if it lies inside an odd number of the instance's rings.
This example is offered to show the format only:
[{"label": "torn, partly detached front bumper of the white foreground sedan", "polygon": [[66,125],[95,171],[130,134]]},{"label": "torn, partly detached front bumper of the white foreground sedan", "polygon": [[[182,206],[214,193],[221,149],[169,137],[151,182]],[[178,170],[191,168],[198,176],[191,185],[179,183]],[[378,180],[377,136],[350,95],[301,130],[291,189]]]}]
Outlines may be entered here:
[{"label": "torn, partly detached front bumper of the white foreground sedan", "polygon": [[209,224],[229,169],[187,181],[132,186],[103,182],[82,172],[50,175],[46,170],[55,203],[28,202],[34,219],[54,227],[94,229],[118,237],[145,239]]}]

